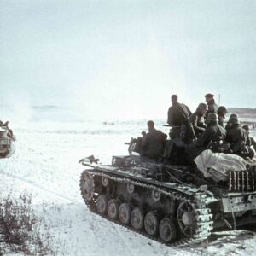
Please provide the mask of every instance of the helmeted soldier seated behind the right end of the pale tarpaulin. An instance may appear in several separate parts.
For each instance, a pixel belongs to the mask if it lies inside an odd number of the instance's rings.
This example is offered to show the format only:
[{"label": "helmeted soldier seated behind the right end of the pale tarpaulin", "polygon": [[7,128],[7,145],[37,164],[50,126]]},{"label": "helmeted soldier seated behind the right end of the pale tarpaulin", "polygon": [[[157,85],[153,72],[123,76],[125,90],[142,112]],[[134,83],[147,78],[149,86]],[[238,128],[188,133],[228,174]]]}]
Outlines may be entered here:
[{"label": "helmeted soldier seated behind the right end of the pale tarpaulin", "polygon": [[248,131],[241,127],[240,121],[236,116],[230,118],[229,122],[230,128],[227,131],[226,142],[230,143],[232,153],[243,158],[253,158],[255,152],[247,146]]}]

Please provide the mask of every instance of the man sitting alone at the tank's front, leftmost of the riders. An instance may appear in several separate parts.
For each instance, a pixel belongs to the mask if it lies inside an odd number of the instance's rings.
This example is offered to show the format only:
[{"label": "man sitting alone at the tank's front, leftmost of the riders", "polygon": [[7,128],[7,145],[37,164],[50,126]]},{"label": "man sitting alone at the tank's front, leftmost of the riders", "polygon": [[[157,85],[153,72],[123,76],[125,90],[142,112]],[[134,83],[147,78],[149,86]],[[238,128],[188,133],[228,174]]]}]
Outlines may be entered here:
[{"label": "man sitting alone at the tank's front, leftmost of the riders", "polygon": [[148,121],[148,133],[142,140],[142,156],[159,160],[166,146],[166,134],[154,128],[154,122]]}]

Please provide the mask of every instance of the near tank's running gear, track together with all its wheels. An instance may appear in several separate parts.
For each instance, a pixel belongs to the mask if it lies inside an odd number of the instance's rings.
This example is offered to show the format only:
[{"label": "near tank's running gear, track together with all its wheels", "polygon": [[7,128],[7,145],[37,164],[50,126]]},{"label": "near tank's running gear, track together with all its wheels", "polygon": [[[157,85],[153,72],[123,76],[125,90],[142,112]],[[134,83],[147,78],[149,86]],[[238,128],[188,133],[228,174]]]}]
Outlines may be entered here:
[{"label": "near tank's running gear, track together with all its wheels", "polygon": [[[131,202],[109,198],[107,193],[103,193],[104,189],[102,188],[105,187],[106,190],[109,182],[115,183],[115,185],[125,185],[128,193],[132,193],[134,188],[143,189],[143,191],[148,190],[152,192],[154,200],[157,200],[158,193],[160,193],[171,201],[177,201],[179,205],[176,207],[175,214],[161,216],[161,220],[158,217],[160,216],[158,215],[160,208],[148,209],[148,212],[144,212],[146,214],[142,215],[142,217],[145,217],[142,224],[142,221],[140,222],[140,219],[138,219],[142,213],[138,210],[139,207],[133,207]],[[84,202],[91,212],[167,246],[196,244],[207,240],[207,237],[211,235],[213,221],[207,202],[212,201],[212,195],[200,191],[193,193],[193,195],[190,193],[187,195],[180,191],[163,189],[154,184],[138,182],[132,180],[132,178],[106,174],[96,169],[82,172],[80,190]],[[156,195],[154,195],[155,191],[158,192]],[[137,218],[134,218],[133,224],[131,224],[130,216],[133,210],[135,215],[137,213]],[[128,219],[127,214],[130,214]]]}]

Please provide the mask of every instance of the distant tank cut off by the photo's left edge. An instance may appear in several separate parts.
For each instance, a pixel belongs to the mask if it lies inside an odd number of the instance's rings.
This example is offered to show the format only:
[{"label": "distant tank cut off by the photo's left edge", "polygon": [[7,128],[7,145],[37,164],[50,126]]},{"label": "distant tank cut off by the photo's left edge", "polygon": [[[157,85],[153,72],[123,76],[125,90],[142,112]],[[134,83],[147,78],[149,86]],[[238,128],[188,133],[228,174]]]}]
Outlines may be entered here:
[{"label": "distant tank cut off by the photo's left edge", "polygon": [[0,126],[0,159],[8,158],[15,153],[15,136],[7,126]]}]

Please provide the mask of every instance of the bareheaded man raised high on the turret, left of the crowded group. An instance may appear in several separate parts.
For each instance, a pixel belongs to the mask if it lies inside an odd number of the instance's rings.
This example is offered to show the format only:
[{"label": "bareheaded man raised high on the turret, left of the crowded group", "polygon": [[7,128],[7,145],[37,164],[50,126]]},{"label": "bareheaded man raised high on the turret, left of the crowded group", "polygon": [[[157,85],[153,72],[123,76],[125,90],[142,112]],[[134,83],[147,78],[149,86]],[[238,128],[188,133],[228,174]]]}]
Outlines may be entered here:
[{"label": "bareheaded man raised high on the turret, left of the crowded group", "polygon": [[170,137],[186,137],[191,111],[183,104],[177,102],[177,95],[172,95],[172,107],[168,110],[167,123],[172,127]]}]

